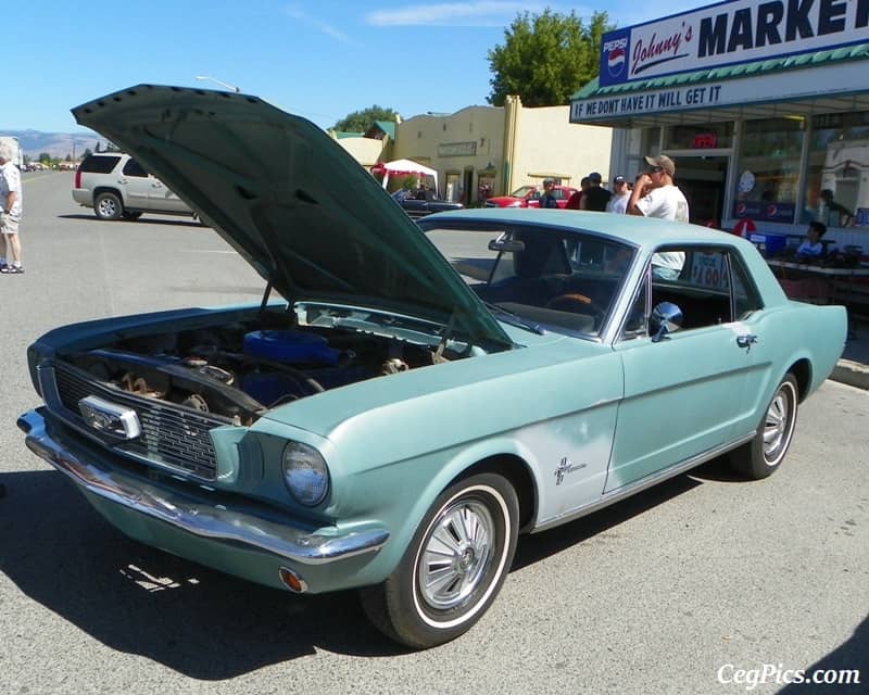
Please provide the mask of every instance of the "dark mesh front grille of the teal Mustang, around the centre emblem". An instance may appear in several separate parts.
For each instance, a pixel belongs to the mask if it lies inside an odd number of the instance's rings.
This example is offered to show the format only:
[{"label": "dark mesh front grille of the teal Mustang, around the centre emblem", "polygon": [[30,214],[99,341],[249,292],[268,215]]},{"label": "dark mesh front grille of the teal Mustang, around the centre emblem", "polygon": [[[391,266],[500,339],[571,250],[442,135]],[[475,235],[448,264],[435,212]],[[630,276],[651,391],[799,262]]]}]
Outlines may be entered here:
[{"label": "dark mesh front grille of the teal Mustang, around the centre emblem", "polygon": [[[63,410],[59,415],[65,420],[114,451],[144,463],[214,480],[217,464],[209,430],[231,425],[231,420],[115,389],[70,365],[55,363],[52,367]],[[89,395],[135,410],[142,433],[134,440],[118,441],[88,428],[78,409],[78,402]]]}]

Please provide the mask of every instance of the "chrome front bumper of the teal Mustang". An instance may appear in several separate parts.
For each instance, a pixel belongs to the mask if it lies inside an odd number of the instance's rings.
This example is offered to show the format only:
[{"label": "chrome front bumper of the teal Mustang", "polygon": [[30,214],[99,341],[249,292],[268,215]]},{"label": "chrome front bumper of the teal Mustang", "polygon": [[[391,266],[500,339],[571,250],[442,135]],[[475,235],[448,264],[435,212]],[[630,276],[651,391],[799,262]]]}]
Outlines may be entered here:
[{"label": "chrome front bumper of the teal Mustang", "polygon": [[324,565],[374,553],[389,540],[386,529],[345,535],[311,533],[263,518],[250,509],[198,502],[123,472],[101,468],[81,460],[61,438],[49,432],[38,410],[22,415],[17,426],[27,435],[27,448],[83,490],[198,538],[239,543],[303,565]]}]

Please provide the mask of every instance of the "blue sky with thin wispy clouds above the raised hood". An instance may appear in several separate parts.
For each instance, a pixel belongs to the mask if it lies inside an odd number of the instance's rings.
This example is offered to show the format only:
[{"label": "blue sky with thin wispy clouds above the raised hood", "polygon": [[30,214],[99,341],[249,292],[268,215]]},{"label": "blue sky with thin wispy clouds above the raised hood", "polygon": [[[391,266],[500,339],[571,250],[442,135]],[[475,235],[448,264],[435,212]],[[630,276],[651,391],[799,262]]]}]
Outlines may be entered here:
[{"label": "blue sky with thin wispy clouds above the raised hood", "polygon": [[76,132],[70,109],[140,83],[219,88],[327,128],[371,104],[407,118],[486,104],[489,49],[546,7],[620,27],[709,2],[9,0],[0,129]]}]

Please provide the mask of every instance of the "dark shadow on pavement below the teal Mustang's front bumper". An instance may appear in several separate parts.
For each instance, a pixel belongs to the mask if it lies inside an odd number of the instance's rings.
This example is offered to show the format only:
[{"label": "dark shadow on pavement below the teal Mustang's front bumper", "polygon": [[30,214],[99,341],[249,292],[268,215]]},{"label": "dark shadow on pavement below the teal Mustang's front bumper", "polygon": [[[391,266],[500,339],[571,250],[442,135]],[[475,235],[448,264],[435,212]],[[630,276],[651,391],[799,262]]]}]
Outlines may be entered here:
[{"label": "dark shadow on pavement below the teal Mustang's front bumper", "polygon": [[0,572],[112,649],[206,681],[318,648],[406,653],[368,623],[356,592],[294,596],[139,544],[55,471],[0,473]]}]

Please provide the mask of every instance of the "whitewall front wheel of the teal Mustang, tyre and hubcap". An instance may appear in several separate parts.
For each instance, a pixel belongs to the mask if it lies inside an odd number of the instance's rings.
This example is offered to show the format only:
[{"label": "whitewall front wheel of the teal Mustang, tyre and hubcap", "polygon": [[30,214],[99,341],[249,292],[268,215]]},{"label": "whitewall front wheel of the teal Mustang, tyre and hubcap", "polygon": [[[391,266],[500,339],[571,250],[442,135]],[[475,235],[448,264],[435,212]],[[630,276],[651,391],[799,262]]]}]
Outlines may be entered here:
[{"label": "whitewall front wheel of the teal Mustang, tyre and hubcap", "polygon": [[501,476],[456,482],[434,501],[395,571],[361,591],[368,619],[414,648],[467,632],[494,601],[516,552],[519,503]]}]

